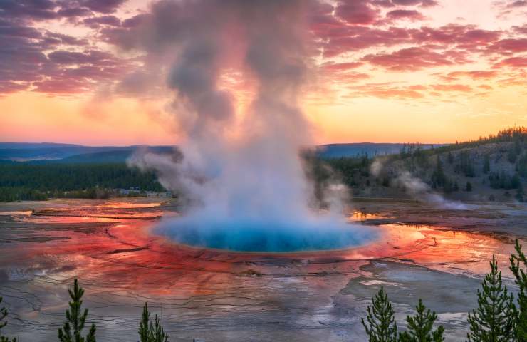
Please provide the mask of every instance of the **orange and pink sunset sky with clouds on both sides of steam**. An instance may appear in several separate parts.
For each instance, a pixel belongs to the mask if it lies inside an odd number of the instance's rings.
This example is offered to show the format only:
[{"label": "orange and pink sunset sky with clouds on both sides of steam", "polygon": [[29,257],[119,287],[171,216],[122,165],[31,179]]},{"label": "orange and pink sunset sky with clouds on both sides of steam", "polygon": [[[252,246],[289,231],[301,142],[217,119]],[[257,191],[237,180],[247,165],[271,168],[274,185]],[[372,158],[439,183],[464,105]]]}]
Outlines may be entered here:
[{"label": "orange and pink sunset sky with clouds on both sides of steam", "polygon": [[[1,0],[0,141],[184,140],[167,82],[180,46],[152,33],[185,31],[165,11],[181,2]],[[316,143],[455,142],[527,125],[526,0],[303,4],[310,72],[298,101]],[[165,26],[152,26],[160,14]],[[218,43],[229,56],[243,44]],[[254,80],[226,65],[217,86],[243,116]]]}]

